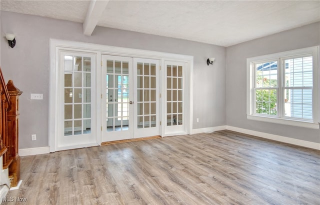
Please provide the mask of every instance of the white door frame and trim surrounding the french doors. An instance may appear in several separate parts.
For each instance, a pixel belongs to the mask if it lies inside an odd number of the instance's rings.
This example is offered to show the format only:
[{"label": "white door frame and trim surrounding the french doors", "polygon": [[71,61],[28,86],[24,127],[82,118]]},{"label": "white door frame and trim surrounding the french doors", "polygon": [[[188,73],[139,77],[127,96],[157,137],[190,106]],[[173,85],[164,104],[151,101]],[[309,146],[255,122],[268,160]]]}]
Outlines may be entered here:
[{"label": "white door frame and trim surrounding the french doors", "polygon": [[[109,45],[100,45],[86,42],[76,42],[69,40],[60,40],[60,39],[50,39],[50,82],[49,82],[49,119],[48,119],[48,145],[50,147],[50,152],[56,151],[56,135],[58,134],[58,118],[56,112],[58,110],[58,89],[56,88],[58,83],[58,72],[57,67],[59,65],[59,51],[79,51],[79,52],[89,52],[96,55],[96,76],[101,76],[101,56],[102,54],[107,55],[120,55],[120,56],[129,56],[129,57],[140,57],[140,58],[150,58],[160,60],[161,68],[164,69],[164,61],[180,61],[186,63],[186,73],[185,73],[185,129],[187,134],[191,133],[192,130],[192,118],[193,118],[193,90],[192,90],[192,74],[193,74],[193,56],[191,55],[182,55],[175,53],[167,52],[158,52],[150,50],[141,50],[134,48],[124,48],[124,47],[115,47]],[[161,72],[163,73],[163,69]],[[163,75],[162,75],[163,76]],[[163,78],[163,77],[162,77]],[[162,79],[163,80],[163,79]],[[97,96],[100,96],[101,91],[101,79],[96,77],[96,93]],[[163,84],[163,83],[162,83]],[[101,85],[101,86],[100,86]],[[161,93],[163,92],[163,86],[161,85]],[[161,98],[163,100],[163,98]],[[163,103],[162,103],[163,104]],[[163,106],[163,105],[162,105]],[[101,100],[96,102],[96,112],[100,113]],[[161,107],[161,110],[163,108]],[[97,117],[96,119],[96,145],[101,144],[101,118]],[[92,127],[94,128],[94,127]],[[161,129],[161,136],[169,136],[171,133],[165,133],[165,130]]]}]

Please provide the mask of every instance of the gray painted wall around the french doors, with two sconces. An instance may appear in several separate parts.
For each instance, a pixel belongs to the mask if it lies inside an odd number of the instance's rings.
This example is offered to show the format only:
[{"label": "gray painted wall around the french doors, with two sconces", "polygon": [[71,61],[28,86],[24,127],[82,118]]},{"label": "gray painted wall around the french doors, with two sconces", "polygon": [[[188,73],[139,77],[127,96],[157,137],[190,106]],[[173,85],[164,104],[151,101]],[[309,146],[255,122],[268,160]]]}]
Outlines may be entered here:
[{"label": "gray painted wall around the french doors, with two sconces", "polygon": [[[5,32],[16,35],[14,48]],[[81,23],[7,11],[1,12],[1,36],[4,77],[23,91],[19,148],[48,146],[49,38],[193,55],[193,129],[226,124],[225,47],[104,27],[85,36]],[[207,57],[216,58],[213,66],[206,65]],[[31,92],[43,93],[43,100],[30,100]]]}]

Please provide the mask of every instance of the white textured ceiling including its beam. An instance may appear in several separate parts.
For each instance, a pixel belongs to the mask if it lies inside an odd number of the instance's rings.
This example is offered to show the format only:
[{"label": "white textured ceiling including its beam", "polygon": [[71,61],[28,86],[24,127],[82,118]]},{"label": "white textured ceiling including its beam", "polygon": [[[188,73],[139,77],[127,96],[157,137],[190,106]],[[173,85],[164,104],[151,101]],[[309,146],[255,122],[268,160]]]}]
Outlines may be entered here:
[{"label": "white textured ceiling including its beam", "polygon": [[320,21],[320,0],[1,0],[1,10],[81,22],[87,35],[98,25],[221,46]]}]

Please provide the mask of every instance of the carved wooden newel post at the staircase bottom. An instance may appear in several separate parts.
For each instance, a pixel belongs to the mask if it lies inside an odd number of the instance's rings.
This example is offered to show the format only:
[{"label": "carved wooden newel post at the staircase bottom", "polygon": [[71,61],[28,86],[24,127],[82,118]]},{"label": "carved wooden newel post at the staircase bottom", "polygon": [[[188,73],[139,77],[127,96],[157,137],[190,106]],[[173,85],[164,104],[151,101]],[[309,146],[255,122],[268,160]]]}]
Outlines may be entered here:
[{"label": "carved wooden newel post at the staircase bottom", "polygon": [[16,186],[20,180],[20,156],[18,155],[18,137],[19,137],[19,96],[22,91],[16,88],[12,80],[6,84],[10,99],[11,109],[8,110],[8,138],[10,147],[8,147],[9,157],[12,163],[9,165],[9,177],[12,178],[11,186]]}]

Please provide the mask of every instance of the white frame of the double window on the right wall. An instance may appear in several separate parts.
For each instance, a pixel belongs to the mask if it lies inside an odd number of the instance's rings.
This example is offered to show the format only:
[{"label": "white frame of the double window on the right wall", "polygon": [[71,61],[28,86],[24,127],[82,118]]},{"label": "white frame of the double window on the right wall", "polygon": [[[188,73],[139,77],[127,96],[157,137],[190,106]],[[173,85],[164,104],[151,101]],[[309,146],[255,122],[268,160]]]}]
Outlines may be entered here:
[{"label": "white frame of the double window on the right wall", "polygon": [[[284,115],[284,89],[285,89],[285,60],[312,55],[312,119],[302,119],[288,117]],[[256,71],[255,64],[261,62],[277,61],[277,86],[276,89],[276,115],[256,113],[255,103],[255,83]],[[246,59],[247,65],[247,90],[246,90],[246,115],[247,119],[266,121],[308,128],[319,128],[320,122],[320,76],[319,76],[319,46],[306,47],[301,49],[289,50],[284,52],[266,54],[261,56],[249,57]]]}]

